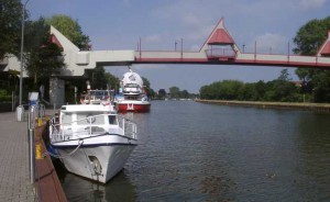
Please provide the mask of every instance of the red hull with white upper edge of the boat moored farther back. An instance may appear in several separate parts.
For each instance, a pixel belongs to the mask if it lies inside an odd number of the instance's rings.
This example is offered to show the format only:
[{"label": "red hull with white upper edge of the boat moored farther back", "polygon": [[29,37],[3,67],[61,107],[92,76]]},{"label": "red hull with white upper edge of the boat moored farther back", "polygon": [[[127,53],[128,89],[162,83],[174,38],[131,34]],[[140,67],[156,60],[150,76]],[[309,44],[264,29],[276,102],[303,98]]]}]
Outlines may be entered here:
[{"label": "red hull with white upper edge of the boat moored farther back", "polygon": [[148,112],[151,103],[148,101],[123,100],[117,103],[118,111],[125,112]]}]

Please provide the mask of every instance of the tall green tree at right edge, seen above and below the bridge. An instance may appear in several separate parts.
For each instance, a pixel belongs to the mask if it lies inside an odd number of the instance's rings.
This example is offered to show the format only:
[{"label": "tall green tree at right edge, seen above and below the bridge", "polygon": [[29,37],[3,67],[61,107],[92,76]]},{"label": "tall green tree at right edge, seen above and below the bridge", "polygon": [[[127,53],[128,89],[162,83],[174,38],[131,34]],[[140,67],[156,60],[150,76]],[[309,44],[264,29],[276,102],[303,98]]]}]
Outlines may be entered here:
[{"label": "tall green tree at right edge, seen above and below the bridge", "polygon": [[[318,48],[327,38],[330,30],[330,16],[321,20],[311,20],[302,25],[294,38],[296,54],[316,55]],[[315,102],[330,102],[330,72],[323,69],[296,70],[297,76],[305,83],[305,92],[314,94]]]}]

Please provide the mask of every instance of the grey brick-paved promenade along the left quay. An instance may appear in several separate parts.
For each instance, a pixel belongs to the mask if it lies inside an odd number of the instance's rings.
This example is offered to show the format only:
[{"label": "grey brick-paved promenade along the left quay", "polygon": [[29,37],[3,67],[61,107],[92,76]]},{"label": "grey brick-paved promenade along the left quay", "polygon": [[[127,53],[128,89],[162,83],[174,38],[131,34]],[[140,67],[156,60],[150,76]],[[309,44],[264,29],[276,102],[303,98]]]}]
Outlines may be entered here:
[{"label": "grey brick-paved promenade along the left quay", "polygon": [[0,201],[37,201],[30,183],[28,122],[0,113]]}]

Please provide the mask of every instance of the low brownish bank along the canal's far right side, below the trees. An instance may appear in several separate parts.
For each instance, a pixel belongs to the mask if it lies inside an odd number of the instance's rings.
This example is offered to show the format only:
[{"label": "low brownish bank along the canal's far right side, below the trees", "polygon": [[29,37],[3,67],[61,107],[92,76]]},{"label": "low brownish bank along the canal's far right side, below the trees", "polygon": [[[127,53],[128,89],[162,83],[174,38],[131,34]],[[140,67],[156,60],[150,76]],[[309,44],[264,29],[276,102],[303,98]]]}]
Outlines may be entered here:
[{"label": "low brownish bank along the canal's far right side, below the trees", "polygon": [[263,109],[308,110],[330,113],[330,103],[302,103],[302,102],[260,102],[260,101],[233,101],[233,100],[195,100],[200,103],[241,105]]}]

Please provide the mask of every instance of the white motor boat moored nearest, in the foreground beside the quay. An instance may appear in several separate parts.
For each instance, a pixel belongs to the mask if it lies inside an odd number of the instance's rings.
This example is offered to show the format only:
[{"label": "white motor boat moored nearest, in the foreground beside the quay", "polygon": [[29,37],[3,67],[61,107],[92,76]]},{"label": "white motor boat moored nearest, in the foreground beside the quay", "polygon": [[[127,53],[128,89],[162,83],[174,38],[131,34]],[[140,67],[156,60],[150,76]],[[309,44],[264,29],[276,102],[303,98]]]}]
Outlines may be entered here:
[{"label": "white motor boat moored nearest, in the foreground beside the quay", "polygon": [[52,119],[50,142],[69,172],[106,183],[138,145],[136,124],[112,104],[63,105]]}]

